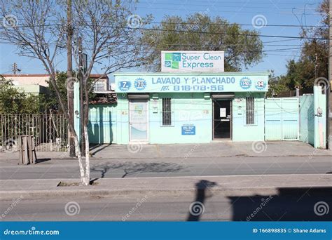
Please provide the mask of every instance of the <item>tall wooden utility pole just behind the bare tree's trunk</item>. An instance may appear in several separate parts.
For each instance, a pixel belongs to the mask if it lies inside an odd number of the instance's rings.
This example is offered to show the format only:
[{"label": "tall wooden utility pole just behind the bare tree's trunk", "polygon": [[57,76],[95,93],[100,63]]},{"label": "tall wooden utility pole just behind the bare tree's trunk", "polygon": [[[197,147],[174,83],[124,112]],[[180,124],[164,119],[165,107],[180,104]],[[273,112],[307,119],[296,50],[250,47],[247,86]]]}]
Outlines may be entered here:
[{"label": "tall wooden utility pole just behind the bare tree's trunk", "polygon": [[[70,124],[74,126],[74,89],[72,88],[71,79],[73,77],[73,61],[72,61],[72,36],[73,26],[71,23],[71,0],[67,0],[67,101],[68,114]],[[69,132],[69,155],[75,156],[75,140],[74,136]]]}]

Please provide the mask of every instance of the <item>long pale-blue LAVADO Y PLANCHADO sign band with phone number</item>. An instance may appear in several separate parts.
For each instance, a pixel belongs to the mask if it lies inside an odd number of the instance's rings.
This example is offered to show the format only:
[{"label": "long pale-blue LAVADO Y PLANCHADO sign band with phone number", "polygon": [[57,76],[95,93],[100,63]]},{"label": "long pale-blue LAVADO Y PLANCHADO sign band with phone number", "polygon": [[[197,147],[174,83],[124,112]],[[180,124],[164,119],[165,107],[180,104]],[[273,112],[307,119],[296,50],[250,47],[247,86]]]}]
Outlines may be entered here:
[{"label": "long pale-blue LAVADO Y PLANCHADO sign band with phone number", "polygon": [[268,74],[115,74],[117,93],[267,92]]}]

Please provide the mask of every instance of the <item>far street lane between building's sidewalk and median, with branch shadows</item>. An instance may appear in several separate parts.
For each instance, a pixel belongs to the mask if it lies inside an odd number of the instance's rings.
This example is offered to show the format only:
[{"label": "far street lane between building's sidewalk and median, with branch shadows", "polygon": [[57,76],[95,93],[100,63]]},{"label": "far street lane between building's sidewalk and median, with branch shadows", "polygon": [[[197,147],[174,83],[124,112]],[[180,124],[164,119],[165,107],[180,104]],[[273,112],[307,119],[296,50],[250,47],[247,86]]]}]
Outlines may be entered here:
[{"label": "far street lane between building's sidewalk and median, with branch shadows", "polygon": [[[91,178],[332,173],[331,156],[230,156],[156,159],[91,159]],[[18,166],[0,161],[0,179],[79,178],[75,159],[39,159]]]}]

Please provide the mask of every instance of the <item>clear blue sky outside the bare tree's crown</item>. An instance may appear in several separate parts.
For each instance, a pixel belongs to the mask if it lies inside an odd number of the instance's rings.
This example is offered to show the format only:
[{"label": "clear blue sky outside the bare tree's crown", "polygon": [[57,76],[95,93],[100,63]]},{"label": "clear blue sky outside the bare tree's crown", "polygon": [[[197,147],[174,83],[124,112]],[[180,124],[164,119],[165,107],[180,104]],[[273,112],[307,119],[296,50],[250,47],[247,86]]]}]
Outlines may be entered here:
[{"label": "clear blue sky outside the bare tree's crown", "polygon": [[[251,25],[253,19],[261,19],[267,26],[258,29],[262,35],[277,36],[298,36],[300,27],[272,27],[269,25],[319,25],[320,15],[315,9],[319,6],[320,0],[141,0],[134,9],[137,15],[152,14],[154,22],[160,22],[164,15],[186,15],[200,12],[211,16],[219,15],[229,22],[237,22],[244,25],[243,28],[254,29]],[[263,15],[263,16],[262,16]],[[275,70],[275,74],[286,73],[286,62],[290,59],[297,59],[300,49],[278,51],[284,48],[300,48],[300,40],[261,37],[264,43],[264,50],[267,51],[263,60],[244,72],[265,72],[269,69]],[[275,42],[277,41],[277,42]],[[272,51],[271,51],[272,50]],[[13,62],[22,69],[22,74],[43,74],[46,71],[38,60],[20,57],[15,54],[15,46],[8,44],[0,45],[1,60],[0,73],[11,74]],[[66,56],[59,55],[56,59],[59,70],[66,70]],[[95,69],[98,73],[99,69]],[[137,69],[132,69],[137,72]]]}]

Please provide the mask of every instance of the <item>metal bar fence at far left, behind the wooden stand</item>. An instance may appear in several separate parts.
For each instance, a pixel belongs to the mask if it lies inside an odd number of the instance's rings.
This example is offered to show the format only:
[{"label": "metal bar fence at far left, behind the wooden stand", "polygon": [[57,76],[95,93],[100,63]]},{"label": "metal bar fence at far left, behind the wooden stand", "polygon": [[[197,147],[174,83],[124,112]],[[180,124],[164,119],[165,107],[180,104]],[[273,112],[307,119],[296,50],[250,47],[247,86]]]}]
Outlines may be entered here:
[{"label": "metal bar fence at far left, behind the wooden stand", "polygon": [[68,128],[64,114],[1,114],[0,152],[15,152],[19,135],[33,135],[39,152],[65,152]]}]

